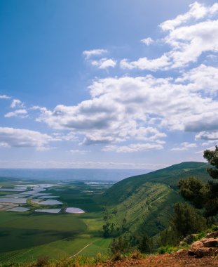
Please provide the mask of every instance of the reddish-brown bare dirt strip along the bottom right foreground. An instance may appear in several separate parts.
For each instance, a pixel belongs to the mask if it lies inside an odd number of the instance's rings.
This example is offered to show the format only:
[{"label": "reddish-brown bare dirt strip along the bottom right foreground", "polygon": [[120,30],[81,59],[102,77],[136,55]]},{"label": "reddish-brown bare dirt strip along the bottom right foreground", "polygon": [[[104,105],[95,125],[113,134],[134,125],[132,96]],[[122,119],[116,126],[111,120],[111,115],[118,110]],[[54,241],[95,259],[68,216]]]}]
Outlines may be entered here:
[{"label": "reddish-brown bare dirt strip along the bottom right foreground", "polygon": [[132,259],[128,261],[114,261],[99,264],[97,267],[218,267],[218,256],[205,256],[197,259],[187,254],[163,254],[148,256],[146,259]]}]

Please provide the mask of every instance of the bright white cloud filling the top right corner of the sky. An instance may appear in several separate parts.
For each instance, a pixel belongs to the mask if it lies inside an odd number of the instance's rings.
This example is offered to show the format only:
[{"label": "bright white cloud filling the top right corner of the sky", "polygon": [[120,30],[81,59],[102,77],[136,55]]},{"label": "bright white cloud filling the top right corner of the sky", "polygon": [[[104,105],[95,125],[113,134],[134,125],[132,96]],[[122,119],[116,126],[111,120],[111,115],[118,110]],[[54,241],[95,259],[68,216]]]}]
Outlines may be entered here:
[{"label": "bright white cloud filling the top right corner of the sky", "polygon": [[[160,58],[139,58],[135,61],[122,60],[121,67],[139,70],[170,70],[195,63],[205,52],[218,51],[218,4],[203,6],[195,2],[187,13],[174,20],[161,23],[165,31],[163,43],[170,46]],[[212,20],[213,19],[213,20]]]}]

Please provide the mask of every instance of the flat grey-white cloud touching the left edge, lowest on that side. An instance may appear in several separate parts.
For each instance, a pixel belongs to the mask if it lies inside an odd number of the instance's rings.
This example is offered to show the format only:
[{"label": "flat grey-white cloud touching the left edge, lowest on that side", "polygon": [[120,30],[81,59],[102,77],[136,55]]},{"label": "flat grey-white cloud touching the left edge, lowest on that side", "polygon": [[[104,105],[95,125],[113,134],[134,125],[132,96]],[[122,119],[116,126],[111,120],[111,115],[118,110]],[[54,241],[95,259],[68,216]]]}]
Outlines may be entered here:
[{"label": "flat grey-white cloud touching the left edge, lowest on that side", "polygon": [[15,148],[45,148],[50,141],[56,141],[55,138],[46,133],[31,131],[27,129],[14,129],[9,127],[0,127],[1,146]]}]

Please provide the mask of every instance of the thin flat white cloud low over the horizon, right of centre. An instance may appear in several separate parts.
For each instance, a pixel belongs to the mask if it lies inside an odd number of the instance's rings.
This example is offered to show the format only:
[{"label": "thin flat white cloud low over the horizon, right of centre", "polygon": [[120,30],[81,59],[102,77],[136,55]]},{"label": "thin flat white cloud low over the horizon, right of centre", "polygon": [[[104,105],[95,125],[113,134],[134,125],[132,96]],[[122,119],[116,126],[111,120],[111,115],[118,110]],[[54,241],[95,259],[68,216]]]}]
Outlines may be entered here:
[{"label": "thin flat white cloud low over the horizon, right of centre", "polygon": [[129,152],[160,150],[160,149],[163,149],[163,145],[156,143],[137,143],[137,144],[121,145],[121,146],[107,145],[105,146],[105,148],[102,149],[102,151],[129,153]]}]

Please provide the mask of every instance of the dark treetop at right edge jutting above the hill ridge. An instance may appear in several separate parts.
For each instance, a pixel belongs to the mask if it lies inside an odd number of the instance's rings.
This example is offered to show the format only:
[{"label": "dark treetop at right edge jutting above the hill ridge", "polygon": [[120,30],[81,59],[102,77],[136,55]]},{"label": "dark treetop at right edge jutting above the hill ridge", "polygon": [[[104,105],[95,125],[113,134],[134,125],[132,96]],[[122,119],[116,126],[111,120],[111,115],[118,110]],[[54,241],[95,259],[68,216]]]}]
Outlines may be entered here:
[{"label": "dark treetop at right edge jutting above the hill ridge", "polygon": [[215,150],[205,150],[203,157],[207,159],[207,162],[209,162],[212,166],[216,167],[216,169],[208,168],[208,174],[210,174],[212,178],[218,179],[218,146],[215,146]]}]

